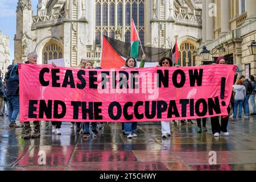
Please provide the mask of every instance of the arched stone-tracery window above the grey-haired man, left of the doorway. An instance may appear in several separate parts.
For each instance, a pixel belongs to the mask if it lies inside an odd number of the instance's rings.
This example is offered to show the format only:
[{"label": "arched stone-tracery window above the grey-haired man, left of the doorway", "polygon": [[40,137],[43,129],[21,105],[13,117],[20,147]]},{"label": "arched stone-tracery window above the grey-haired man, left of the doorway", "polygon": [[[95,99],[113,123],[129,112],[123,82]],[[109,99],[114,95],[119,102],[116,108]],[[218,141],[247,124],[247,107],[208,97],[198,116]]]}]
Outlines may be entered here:
[{"label": "arched stone-tracery window above the grey-haired man, left of the doorway", "polygon": [[63,58],[63,47],[56,41],[51,41],[43,48],[43,64],[48,64],[48,60]]}]

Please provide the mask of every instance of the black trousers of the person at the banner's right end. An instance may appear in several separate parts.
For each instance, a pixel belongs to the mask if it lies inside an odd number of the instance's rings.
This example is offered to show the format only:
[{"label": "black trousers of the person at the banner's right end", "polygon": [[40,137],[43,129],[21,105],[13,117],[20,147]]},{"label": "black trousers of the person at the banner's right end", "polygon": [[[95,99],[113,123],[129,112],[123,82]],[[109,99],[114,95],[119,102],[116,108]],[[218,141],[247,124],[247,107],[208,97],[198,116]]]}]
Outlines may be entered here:
[{"label": "black trousers of the person at the banner's right end", "polygon": [[[230,107],[228,107],[228,113],[230,113]],[[218,119],[218,116],[210,118],[210,123],[212,125],[212,133],[220,133],[221,131],[226,133],[228,130],[226,127],[228,127],[229,122],[229,116],[226,118],[221,117],[221,125],[220,121]]]}]

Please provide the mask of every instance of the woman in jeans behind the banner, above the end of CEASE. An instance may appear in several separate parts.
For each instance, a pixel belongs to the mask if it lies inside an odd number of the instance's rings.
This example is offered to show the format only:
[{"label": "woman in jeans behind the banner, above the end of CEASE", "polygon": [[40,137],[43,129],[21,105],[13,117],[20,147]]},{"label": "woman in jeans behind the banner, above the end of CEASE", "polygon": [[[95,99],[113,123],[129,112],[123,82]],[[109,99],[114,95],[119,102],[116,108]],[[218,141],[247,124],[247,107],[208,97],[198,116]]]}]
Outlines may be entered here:
[{"label": "woman in jeans behind the banner, above the end of CEASE", "polygon": [[[85,69],[93,69],[93,64],[90,61],[87,61],[85,64]],[[84,125],[84,139],[90,138],[90,122],[82,123]],[[94,137],[100,137],[100,134],[97,131],[97,122],[92,122],[92,133]]]}]

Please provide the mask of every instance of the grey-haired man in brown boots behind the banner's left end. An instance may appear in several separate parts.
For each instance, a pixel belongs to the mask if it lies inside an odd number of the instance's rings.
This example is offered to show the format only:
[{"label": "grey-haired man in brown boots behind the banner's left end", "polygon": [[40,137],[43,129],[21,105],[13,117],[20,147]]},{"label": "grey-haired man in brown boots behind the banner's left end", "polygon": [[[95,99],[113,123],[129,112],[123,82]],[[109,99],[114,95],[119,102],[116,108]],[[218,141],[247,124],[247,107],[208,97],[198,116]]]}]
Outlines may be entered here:
[{"label": "grey-haired man in brown boots behind the banner's left end", "polygon": [[[38,54],[36,52],[31,52],[28,53],[27,55],[27,61],[26,64],[37,64],[37,60],[38,60]],[[39,138],[40,137],[40,122],[39,121],[34,121],[34,133],[31,134],[31,126],[30,126],[30,122],[24,122],[24,126],[25,126],[25,135],[24,135],[24,139],[30,139],[32,138]]]}]

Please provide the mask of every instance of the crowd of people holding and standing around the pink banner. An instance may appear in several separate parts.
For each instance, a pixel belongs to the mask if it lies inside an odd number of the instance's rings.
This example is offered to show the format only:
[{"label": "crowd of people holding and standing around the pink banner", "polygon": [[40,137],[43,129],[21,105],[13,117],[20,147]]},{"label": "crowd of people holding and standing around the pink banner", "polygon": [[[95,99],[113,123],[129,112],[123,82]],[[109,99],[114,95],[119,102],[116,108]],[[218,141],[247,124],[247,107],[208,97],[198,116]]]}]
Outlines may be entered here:
[{"label": "crowd of people holding and standing around the pink banner", "polygon": [[[27,55],[27,61],[25,64],[37,64],[38,55],[36,52],[31,52]],[[143,55],[141,64],[137,67],[137,61],[133,57],[129,57],[125,61],[125,66],[121,67],[121,69],[130,69],[130,68],[143,68],[146,60],[146,55]],[[218,57],[216,64],[226,64],[225,57]],[[56,67],[54,63],[52,63],[53,67]],[[80,68],[82,69],[93,69],[93,64],[85,59],[82,59],[80,62]],[[172,67],[174,66],[171,57],[163,57],[159,60],[158,67]],[[179,67],[179,66],[177,66]],[[94,69],[101,69],[100,67],[96,67]],[[15,74],[16,73],[16,74]],[[0,74],[1,75],[1,74]],[[235,84],[236,83],[236,84]],[[249,113],[249,101],[251,103],[252,112]],[[5,105],[7,107],[5,107]],[[9,117],[9,126],[10,127],[22,127],[22,125],[16,124],[16,118],[19,114],[19,75],[18,75],[18,66],[17,65],[9,65],[8,71],[5,75],[4,82],[2,78],[0,79],[0,115],[3,116],[5,114],[5,108],[7,110],[6,116]],[[233,110],[233,114],[230,117],[237,117],[237,108],[238,108],[238,118],[242,118],[242,110],[243,117],[248,118],[250,115],[256,115],[255,113],[255,80],[254,76],[249,76],[249,78],[245,78],[245,76],[241,76],[237,80],[237,74],[234,78],[234,86],[233,93],[230,100],[230,104],[228,106],[228,113]],[[203,129],[201,126],[201,119],[203,119]],[[228,117],[221,117],[221,123],[219,122],[219,117],[211,117],[211,125],[212,125],[212,133],[214,137],[219,137],[221,132],[228,136]],[[202,131],[208,131],[206,127],[207,118],[197,118],[197,127],[198,133]],[[174,121],[176,122],[176,121]],[[181,123],[184,123],[185,120],[181,120]],[[193,122],[188,119],[188,123],[193,124]],[[25,134],[24,139],[30,138],[39,138],[40,137],[40,122],[34,121],[34,133],[32,133],[32,129],[30,126],[30,121],[24,122]],[[83,134],[84,139],[88,139],[91,137],[100,137],[98,133],[98,129],[104,129],[104,123],[92,122],[91,125],[89,122],[72,122],[71,128],[74,129],[76,126],[76,132]],[[171,128],[170,122],[162,121],[162,138],[171,137]],[[61,122],[52,121],[52,133],[60,135],[61,131]],[[122,123],[122,132],[123,135],[127,135],[128,139],[132,139],[137,137],[137,122],[125,122]]]}]

